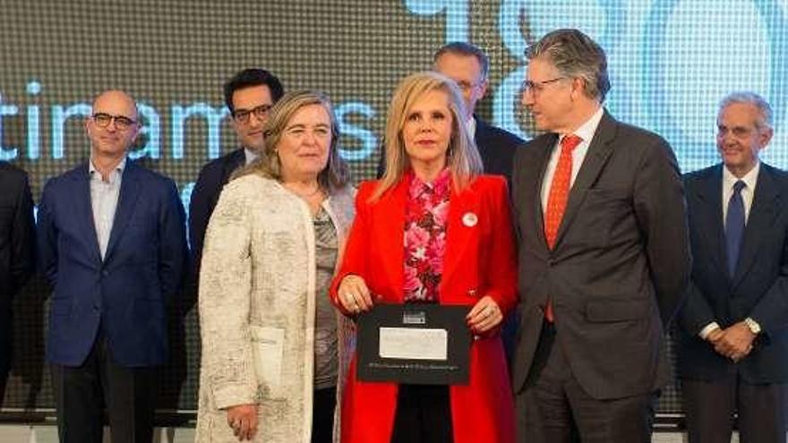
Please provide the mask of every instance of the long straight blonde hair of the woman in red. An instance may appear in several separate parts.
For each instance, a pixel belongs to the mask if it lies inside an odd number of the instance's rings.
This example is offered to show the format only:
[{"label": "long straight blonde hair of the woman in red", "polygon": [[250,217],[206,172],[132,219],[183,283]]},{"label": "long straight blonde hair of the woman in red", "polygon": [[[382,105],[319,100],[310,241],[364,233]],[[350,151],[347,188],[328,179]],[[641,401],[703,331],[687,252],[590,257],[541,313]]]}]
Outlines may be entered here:
[{"label": "long straight blonde hair of the woman in red", "polygon": [[410,166],[402,137],[407,112],[417,100],[433,90],[440,90],[449,98],[452,124],[446,164],[450,169],[452,183],[456,189],[462,190],[476,175],[482,174],[482,158],[467,131],[463,118],[466,115],[465,102],[457,84],[438,72],[416,72],[399,83],[391,98],[386,119],[386,172],[370,200],[380,199],[405,175]]}]

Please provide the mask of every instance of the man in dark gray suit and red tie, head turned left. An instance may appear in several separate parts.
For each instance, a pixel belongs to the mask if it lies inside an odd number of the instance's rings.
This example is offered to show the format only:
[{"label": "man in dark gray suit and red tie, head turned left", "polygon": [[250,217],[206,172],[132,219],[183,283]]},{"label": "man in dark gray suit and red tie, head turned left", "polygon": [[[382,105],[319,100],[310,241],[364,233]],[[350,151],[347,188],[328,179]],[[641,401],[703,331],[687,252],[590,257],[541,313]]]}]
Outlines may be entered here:
[{"label": "man in dark gray suit and red tie, head turned left", "polygon": [[690,270],[681,175],[659,136],[602,107],[604,51],[578,30],[527,49],[523,103],[544,135],[512,177],[518,441],[651,441],[664,331]]}]

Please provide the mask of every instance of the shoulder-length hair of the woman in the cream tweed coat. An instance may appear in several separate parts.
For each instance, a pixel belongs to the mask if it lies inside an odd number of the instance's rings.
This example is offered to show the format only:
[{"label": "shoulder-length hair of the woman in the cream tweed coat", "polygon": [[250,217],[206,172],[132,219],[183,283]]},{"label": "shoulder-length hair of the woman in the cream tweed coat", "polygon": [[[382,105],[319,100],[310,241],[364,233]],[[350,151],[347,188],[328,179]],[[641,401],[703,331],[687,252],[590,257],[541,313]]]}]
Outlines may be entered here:
[{"label": "shoulder-length hair of the woman in the cream tweed coat", "polygon": [[279,99],[276,105],[271,107],[268,120],[263,126],[263,137],[265,138],[265,148],[262,149],[260,158],[244,166],[232,175],[231,180],[244,175],[261,175],[279,182],[282,181],[282,164],[279,161],[277,145],[287,128],[290,119],[293,118],[304,106],[320,105],[329,114],[331,121],[331,144],[329,147],[329,162],[317,176],[318,183],[327,192],[333,192],[344,188],[350,181],[349,168],[347,163],[339,156],[339,125],[337,116],[334,115],[333,107],[329,98],[319,91],[301,90],[288,92]]}]

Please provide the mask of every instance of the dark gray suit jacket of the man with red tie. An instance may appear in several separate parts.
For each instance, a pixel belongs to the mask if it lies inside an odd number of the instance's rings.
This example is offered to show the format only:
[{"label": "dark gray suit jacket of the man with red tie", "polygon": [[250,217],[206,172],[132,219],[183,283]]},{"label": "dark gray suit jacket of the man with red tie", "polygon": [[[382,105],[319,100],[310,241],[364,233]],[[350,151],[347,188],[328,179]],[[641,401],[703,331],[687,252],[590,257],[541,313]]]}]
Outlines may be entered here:
[{"label": "dark gray suit jacket of the man with red tie", "polygon": [[659,136],[605,112],[551,251],[540,192],[557,140],[544,134],[515,158],[521,326],[512,386],[524,388],[549,297],[556,345],[590,396],[650,392],[669,378],[664,329],[690,271],[676,159]]}]

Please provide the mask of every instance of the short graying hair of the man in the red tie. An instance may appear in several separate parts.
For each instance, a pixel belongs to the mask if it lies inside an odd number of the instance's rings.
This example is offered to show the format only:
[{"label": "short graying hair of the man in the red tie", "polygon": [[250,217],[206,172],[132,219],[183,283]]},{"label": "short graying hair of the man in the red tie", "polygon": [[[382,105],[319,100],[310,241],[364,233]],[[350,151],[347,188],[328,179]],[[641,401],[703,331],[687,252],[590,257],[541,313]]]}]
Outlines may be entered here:
[{"label": "short graying hair of the man in the red tie", "polygon": [[610,90],[604,50],[579,30],[553,30],[526,49],[526,58],[545,59],[561,75],[582,80],[589,98],[603,102]]}]

